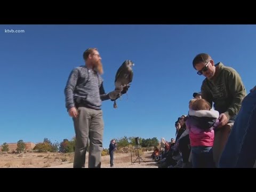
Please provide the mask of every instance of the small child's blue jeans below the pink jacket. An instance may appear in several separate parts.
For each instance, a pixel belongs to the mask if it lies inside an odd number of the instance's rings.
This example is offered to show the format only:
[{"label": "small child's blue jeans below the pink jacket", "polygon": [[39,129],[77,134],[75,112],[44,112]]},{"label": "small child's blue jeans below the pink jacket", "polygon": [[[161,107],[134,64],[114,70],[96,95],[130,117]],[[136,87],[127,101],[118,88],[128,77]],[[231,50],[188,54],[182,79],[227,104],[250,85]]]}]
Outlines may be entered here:
[{"label": "small child's blue jeans below the pink jacket", "polygon": [[213,168],[212,147],[196,146],[191,147],[193,168]]}]

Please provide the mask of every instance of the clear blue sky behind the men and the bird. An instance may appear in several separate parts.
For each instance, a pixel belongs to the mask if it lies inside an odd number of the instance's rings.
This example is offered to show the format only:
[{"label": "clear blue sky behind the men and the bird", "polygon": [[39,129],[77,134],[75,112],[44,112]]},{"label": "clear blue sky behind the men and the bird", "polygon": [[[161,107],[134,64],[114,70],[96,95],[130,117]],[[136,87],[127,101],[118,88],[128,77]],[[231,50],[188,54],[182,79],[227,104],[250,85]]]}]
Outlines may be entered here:
[{"label": "clear blue sky behind the men and the bird", "polygon": [[0,42],[0,145],[75,135],[63,90],[70,71],[84,65],[88,47],[101,54],[106,92],[114,90],[123,61],[135,63],[118,108],[110,100],[102,103],[105,148],[124,135],[175,137],[174,122],[187,114],[204,79],[192,66],[198,53],[235,68],[247,93],[255,85],[255,25],[0,25]]}]

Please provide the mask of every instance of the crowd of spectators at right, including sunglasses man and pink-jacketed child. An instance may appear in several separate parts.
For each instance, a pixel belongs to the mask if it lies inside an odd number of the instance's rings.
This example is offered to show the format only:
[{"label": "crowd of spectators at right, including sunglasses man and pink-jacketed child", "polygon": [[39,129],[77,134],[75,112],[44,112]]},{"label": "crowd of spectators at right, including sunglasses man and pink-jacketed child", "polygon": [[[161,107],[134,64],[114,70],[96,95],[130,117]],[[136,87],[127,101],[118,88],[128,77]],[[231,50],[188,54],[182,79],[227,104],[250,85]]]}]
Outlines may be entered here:
[{"label": "crowd of spectators at right, including sunglasses man and pink-jacketed child", "polygon": [[237,71],[209,54],[196,55],[193,67],[206,78],[189,113],[175,122],[175,145],[161,155],[159,167],[253,167],[256,86],[246,95]]}]

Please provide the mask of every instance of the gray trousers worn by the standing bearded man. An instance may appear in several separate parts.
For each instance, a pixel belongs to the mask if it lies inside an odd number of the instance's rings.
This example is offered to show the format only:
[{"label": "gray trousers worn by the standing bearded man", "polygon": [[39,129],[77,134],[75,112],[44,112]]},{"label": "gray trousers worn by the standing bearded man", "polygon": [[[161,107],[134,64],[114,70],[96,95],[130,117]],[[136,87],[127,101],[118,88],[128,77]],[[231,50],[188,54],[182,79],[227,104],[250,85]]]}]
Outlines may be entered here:
[{"label": "gray trousers worn by the standing bearded man", "polygon": [[89,168],[100,168],[103,140],[102,110],[78,107],[78,117],[73,118],[76,133],[74,168],[85,167],[86,148],[89,147]]}]

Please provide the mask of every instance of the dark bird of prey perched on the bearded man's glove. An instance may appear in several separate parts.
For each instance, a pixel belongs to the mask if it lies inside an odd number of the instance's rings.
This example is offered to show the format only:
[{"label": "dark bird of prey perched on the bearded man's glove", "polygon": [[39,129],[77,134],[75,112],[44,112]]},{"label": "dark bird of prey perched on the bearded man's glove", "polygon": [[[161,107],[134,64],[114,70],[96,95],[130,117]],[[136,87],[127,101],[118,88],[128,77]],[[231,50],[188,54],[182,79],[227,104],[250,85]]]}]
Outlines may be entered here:
[{"label": "dark bird of prey perched on the bearded man's glove", "polygon": [[114,101],[114,108],[117,108],[116,100],[121,97],[122,94],[125,94],[130,87],[133,77],[132,66],[134,66],[134,63],[131,60],[125,60],[116,72],[115,90],[121,87],[122,91],[115,100],[112,100]]}]

